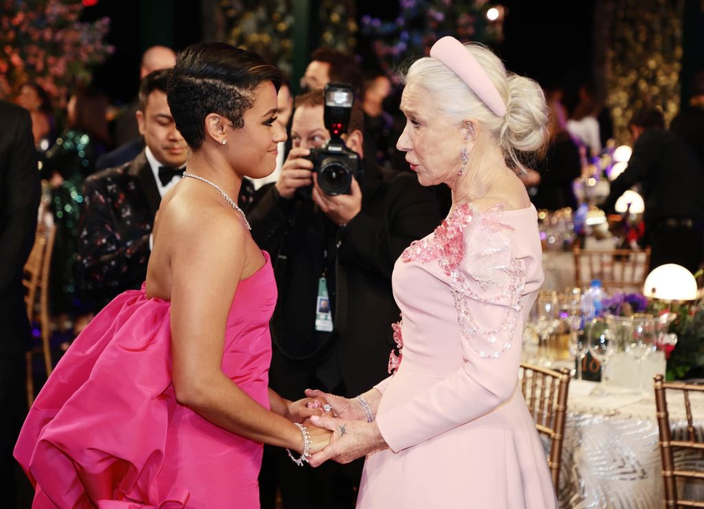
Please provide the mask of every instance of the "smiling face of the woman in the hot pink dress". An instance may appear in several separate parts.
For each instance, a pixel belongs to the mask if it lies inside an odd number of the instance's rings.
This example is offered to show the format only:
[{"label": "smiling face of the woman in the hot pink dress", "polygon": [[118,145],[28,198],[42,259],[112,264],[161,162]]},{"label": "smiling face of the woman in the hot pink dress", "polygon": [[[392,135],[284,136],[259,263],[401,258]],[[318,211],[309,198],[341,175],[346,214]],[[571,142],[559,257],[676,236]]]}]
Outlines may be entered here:
[{"label": "smiling face of the woman in the hot pink dress", "polygon": [[274,84],[263,82],[254,91],[254,104],[242,119],[244,126],[227,133],[227,158],[241,176],[258,179],[276,168],[277,144],[286,141],[284,127],[276,121],[277,93]]}]

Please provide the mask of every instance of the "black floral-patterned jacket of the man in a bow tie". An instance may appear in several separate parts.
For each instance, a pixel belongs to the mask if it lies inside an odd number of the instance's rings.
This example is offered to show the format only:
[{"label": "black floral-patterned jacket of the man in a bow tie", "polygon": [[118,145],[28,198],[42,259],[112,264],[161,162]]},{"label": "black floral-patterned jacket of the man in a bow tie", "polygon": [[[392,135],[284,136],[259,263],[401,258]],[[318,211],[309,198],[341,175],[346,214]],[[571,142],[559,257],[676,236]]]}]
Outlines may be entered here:
[{"label": "black floral-patterned jacket of the man in a bow tie", "polygon": [[[239,205],[251,206],[253,184],[243,181]],[[144,151],[130,163],[85,180],[78,239],[78,275],[94,310],[146,279],[149,235],[161,194]]]}]

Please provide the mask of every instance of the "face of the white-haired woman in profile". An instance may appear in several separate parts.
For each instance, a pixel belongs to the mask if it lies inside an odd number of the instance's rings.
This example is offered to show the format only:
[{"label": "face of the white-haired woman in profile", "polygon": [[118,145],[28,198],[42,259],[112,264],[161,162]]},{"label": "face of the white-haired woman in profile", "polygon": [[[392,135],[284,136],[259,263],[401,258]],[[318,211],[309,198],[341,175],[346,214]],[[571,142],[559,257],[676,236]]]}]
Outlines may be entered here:
[{"label": "face of the white-haired woman in profile", "polygon": [[462,162],[462,125],[438,113],[434,99],[412,82],[403,90],[401,111],[406,115],[406,127],[396,148],[406,152],[406,161],[417,173],[418,182],[452,187]]}]

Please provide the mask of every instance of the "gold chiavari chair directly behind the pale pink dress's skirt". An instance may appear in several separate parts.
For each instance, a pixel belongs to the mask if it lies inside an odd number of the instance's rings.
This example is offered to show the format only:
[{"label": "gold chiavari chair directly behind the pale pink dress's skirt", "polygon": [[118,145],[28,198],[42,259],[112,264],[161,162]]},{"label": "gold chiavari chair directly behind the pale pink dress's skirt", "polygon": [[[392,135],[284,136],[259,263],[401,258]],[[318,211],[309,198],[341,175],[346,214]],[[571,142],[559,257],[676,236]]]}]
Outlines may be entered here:
[{"label": "gold chiavari chair directly behind the pale pink dress's skirt", "polygon": [[567,392],[570,390],[570,371],[560,371],[521,363],[520,384],[528,410],[540,434],[550,438],[548,467],[553,477],[555,493],[559,489],[562,441],[567,418]]}]

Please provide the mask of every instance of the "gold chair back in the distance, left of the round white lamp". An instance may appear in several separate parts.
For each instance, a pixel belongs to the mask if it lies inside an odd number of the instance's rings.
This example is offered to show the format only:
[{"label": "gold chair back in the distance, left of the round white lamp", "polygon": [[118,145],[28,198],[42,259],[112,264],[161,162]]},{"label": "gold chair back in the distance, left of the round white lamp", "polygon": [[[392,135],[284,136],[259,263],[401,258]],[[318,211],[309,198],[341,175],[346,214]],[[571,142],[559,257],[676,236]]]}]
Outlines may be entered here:
[{"label": "gold chair back in the distance, left of the round white lamp", "polygon": [[575,247],[574,286],[589,287],[592,279],[601,279],[604,288],[643,290],[650,265],[650,248],[596,250]]}]

